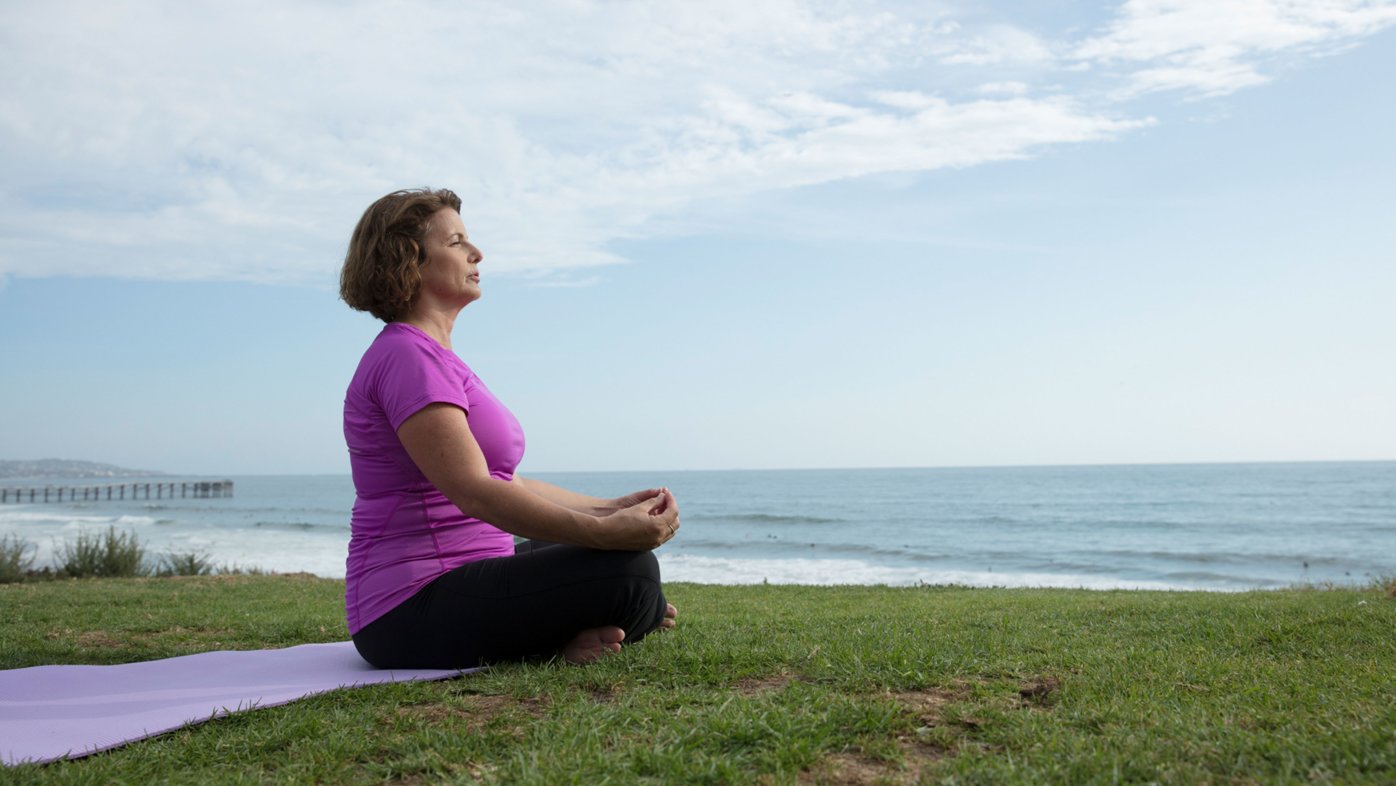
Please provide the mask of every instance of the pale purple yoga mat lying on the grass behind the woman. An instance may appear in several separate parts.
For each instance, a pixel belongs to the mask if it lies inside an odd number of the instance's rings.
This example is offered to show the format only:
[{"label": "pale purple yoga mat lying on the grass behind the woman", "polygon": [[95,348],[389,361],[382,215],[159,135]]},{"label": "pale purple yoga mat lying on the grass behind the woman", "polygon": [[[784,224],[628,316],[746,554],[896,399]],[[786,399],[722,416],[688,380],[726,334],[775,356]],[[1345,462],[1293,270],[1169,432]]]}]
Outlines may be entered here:
[{"label": "pale purple yoga mat lying on the grass behind the woman", "polygon": [[338,688],[477,670],[374,669],[349,641],[117,666],[11,669],[0,672],[0,762],[77,758]]}]

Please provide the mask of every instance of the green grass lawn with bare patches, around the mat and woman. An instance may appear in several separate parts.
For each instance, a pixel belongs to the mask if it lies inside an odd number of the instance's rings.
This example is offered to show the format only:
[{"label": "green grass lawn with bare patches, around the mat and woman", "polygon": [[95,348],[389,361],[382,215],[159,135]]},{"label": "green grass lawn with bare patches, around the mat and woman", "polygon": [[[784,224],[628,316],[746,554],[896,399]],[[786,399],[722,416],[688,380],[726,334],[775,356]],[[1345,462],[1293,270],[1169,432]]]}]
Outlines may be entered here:
[{"label": "green grass lawn with bare patches, around the mat and woman", "polygon": [[[0,667],[345,638],[342,582],[0,586]],[[1393,783],[1396,599],[673,585],[589,667],[338,691],[0,771],[75,783]]]}]

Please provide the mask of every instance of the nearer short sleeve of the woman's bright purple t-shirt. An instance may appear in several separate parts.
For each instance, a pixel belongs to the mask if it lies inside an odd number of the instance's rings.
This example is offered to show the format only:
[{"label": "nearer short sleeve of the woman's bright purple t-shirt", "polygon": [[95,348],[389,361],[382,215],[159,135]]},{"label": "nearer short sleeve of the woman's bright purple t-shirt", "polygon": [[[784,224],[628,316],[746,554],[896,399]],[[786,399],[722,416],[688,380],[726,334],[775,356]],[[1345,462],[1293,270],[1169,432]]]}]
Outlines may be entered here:
[{"label": "nearer short sleeve of the woman's bright purple t-shirt", "polygon": [[[466,413],[465,396],[469,373],[465,364],[413,335],[398,335],[383,342],[370,380],[370,398],[387,416],[392,430],[429,403],[454,403]],[[451,360],[455,360],[452,363]]]}]

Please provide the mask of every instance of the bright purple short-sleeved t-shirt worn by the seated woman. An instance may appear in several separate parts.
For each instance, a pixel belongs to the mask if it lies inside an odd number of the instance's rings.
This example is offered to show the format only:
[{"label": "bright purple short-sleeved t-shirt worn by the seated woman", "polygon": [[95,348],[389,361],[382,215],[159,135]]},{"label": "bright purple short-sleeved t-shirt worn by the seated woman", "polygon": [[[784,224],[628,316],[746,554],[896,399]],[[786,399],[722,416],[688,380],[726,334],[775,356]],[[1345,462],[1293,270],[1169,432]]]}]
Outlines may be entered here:
[{"label": "bright purple short-sleeved t-shirt worn by the seated woman", "polygon": [[524,458],[519,422],[469,366],[413,325],[383,328],[345,394],[357,491],[345,564],[350,634],[455,567],[514,553],[512,535],[461,512],[398,440],[402,422],[434,402],[465,410],[491,476],[511,480]]}]

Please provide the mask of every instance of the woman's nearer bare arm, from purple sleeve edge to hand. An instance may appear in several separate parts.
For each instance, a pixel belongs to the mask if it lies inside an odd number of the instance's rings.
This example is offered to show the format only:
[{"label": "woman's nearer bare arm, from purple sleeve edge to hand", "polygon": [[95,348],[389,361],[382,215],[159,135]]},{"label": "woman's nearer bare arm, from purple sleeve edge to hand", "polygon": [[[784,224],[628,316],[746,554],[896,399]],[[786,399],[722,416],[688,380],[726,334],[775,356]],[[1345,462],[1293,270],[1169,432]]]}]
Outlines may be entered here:
[{"label": "woman's nearer bare arm, from purple sleeve edge to hand", "polygon": [[644,551],[673,537],[678,528],[678,510],[667,494],[599,517],[491,477],[465,410],[450,403],[430,403],[413,413],[398,427],[398,438],[417,469],[461,511],[522,537]]}]

